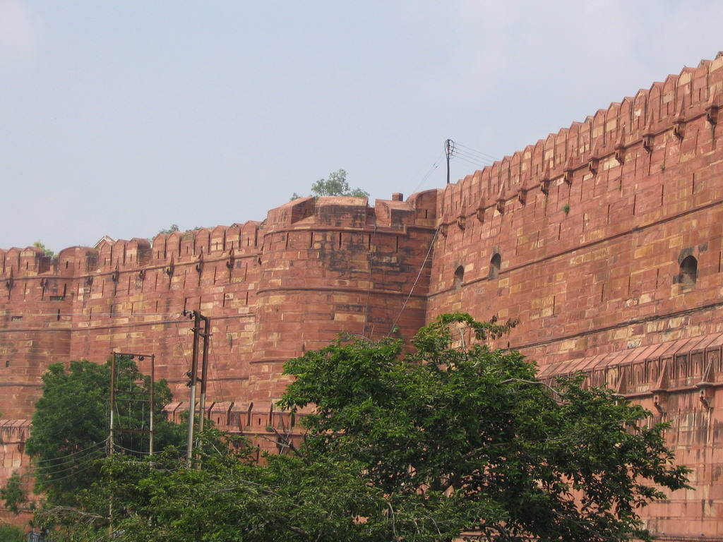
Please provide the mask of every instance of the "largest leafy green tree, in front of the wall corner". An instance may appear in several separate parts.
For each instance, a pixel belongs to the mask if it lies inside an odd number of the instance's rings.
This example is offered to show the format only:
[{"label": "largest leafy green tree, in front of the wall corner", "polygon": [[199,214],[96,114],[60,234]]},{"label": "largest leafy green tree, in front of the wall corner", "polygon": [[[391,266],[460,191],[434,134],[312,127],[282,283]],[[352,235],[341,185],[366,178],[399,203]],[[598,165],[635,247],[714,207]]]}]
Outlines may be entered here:
[{"label": "largest leafy green tree, in front of the wall corner", "polygon": [[[305,453],[359,462],[388,512],[419,499],[419,517],[454,499],[462,529],[500,538],[607,541],[650,535],[639,507],[686,487],[664,425],[583,378],[548,388],[520,353],[484,340],[505,325],[447,314],[414,337],[356,338],[286,365],[296,382],[281,406],[315,404]],[[382,513],[380,510],[378,513]],[[471,520],[471,518],[475,518]]]}]

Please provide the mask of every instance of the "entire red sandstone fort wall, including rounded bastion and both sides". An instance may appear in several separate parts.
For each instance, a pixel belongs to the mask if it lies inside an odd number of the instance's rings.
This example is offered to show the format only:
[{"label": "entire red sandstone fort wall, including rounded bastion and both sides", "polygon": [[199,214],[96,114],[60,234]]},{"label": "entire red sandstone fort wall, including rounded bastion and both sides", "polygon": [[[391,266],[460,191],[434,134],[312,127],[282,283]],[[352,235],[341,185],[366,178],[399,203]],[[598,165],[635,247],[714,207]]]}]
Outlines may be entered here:
[{"label": "entire red sandstone fort wall, including rounded bastion and both sides", "polygon": [[14,431],[0,476],[27,465],[27,420],[57,361],[153,353],[179,419],[184,309],[212,319],[207,415],[257,436],[294,423],[274,405],[284,361],[339,332],[409,337],[462,310],[520,319],[497,346],[536,360],[541,379],[585,371],[669,421],[695,489],[646,520],[672,539],[723,537],[721,108],[719,55],[406,201],[302,198],[262,223],[56,259],[0,250],[0,429]]}]

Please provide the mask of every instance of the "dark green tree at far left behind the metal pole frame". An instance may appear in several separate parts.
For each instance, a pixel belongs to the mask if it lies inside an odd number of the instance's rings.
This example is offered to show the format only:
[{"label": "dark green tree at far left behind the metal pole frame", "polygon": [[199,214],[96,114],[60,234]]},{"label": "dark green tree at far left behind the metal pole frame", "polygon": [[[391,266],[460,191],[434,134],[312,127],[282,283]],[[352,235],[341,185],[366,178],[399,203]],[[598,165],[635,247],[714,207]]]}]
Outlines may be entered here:
[{"label": "dark green tree at far left behind the metal pole frame", "polygon": [[[119,358],[116,387],[146,391],[150,377],[138,371],[134,361]],[[108,414],[111,364],[71,361],[68,369],[53,364],[43,375],[43,396],[35,403],[33,426],[26,452],[33,457],[35,491],[48,505],[74,506],[79,492],[90,488],[100,476],[99,460],[108,452]],[[163,420],[163,406],[171,401],[165,381],[155,384],[155,445],[184,442],[180,426]],[[147,403],[116,403],[116,426],[147,429],[150,413]],[[116,444],[135,450],[148,449],[147,435],[120,433]]]}]

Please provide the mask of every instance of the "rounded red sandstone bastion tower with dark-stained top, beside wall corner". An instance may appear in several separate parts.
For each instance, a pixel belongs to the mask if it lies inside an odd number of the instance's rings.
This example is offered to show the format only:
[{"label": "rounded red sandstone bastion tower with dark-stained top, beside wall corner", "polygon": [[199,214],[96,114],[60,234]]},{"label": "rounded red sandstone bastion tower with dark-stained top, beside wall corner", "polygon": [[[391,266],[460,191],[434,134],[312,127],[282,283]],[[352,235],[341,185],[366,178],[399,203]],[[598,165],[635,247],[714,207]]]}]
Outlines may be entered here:
[{"label": "rounded red sandstone bastion tower with dark-stained top, beside wall corner", "polygon": [[278,399],[283,363],[339,333],[411,337],[424,325],[437,190],[391,200],[305,197],[268,213],[260,231],[249,395]]}]

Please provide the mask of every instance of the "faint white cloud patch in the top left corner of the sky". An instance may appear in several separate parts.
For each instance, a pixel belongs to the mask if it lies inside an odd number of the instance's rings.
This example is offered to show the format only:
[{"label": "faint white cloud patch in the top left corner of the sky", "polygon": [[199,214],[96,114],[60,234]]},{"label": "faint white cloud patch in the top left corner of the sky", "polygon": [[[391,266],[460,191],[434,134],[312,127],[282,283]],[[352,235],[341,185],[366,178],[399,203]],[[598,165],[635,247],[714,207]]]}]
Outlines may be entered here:
[{"label": "faint white cloud patch in the top left corner of the sky", "polygon": [[38,46],[38,26],[22,0],[0,1],[0,63],[25,61]]}]

